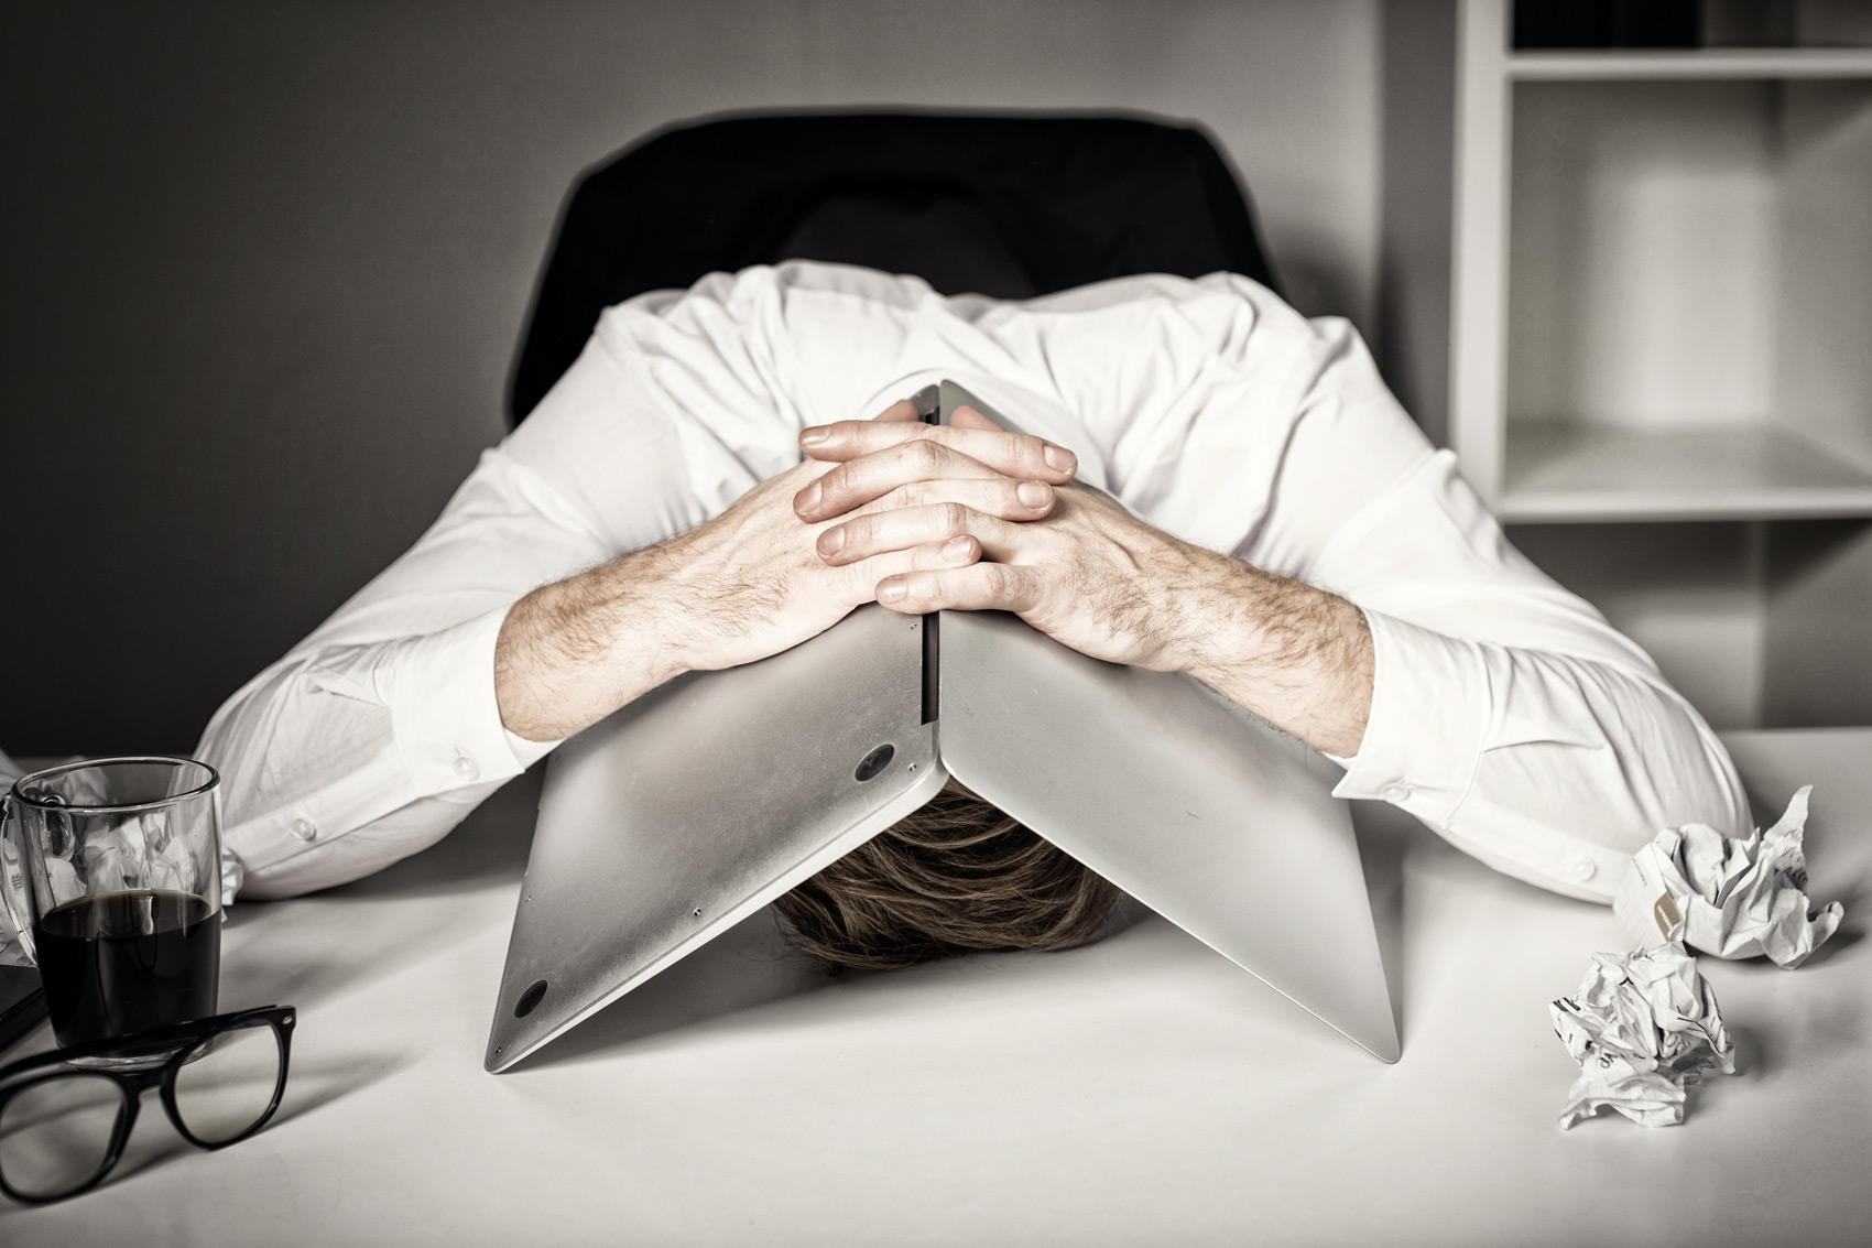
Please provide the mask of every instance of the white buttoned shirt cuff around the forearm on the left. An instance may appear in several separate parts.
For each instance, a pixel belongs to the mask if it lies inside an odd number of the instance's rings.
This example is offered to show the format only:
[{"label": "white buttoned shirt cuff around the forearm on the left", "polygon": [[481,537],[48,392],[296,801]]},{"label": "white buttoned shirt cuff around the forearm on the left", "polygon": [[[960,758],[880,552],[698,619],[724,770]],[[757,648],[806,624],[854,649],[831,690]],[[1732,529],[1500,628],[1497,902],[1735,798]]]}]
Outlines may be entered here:
[{"label": "white buttoned shirt cuff around the forearm on the left", "polygon": [[528,742],[500,721],[494,643],[505,618],[500,607],[414,637],[382,673],[397,753],[419,796],[509,780],[558,744]]}]

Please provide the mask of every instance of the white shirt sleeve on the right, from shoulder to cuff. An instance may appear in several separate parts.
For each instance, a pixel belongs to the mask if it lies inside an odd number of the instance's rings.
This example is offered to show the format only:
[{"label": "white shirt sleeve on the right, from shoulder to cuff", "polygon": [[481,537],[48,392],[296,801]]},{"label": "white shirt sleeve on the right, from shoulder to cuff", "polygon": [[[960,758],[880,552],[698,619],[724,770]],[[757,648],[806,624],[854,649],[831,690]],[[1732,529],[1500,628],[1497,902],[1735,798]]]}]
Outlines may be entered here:
[{"label": "white shirt sleeve on the right, from shoulder to cuff", "polygon": [[1292,403],[1292,431],[1271,506],[1234,549],[1370,626],[1372,706],[1337,796],[1398,806],[1507,875],[1593,901],[1659,828],[1747,832],[1704,718],[1509,543],[1352,326],[1269,307],[1264,332],[1303,364],[1277,405]]}]

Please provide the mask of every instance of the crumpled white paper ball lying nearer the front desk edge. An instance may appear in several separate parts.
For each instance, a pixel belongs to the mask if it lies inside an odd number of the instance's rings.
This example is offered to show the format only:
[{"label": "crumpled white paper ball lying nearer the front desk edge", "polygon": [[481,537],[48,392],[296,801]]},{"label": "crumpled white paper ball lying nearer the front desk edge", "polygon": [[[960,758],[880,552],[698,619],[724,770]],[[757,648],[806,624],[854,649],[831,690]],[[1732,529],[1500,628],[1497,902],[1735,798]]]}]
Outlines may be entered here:
[{"label": "crumpled white paper ball lying nearer the front desk edge", "polygon": [[1705,1070],[1735,1074],[1717,993],[1681,944],[1593,954],[1580,991],[1548,1006],[1580,1062],[1559,1128],[1612,1106],[1640,1126],[1675,1126]]}]

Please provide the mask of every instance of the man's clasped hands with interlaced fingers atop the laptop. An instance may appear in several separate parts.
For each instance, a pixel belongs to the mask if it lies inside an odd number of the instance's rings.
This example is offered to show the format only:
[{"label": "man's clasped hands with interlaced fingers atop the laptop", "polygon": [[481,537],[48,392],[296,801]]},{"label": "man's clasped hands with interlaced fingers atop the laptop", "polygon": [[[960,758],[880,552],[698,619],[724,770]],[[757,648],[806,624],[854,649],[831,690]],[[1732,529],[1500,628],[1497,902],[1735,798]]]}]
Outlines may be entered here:
[{"label": "man's clasped hands with interlaced fingers atop the laptop", "polygon": [[1093,658],[1191,667],[1189,607],[1226,575],[1075,480],[1071,450],[972,407],[927,425],[910,403],[799,435],[807,459],[668,543],[711,600],[685,667],[730,667],[797,645],[854,607],[1013,611]]}]

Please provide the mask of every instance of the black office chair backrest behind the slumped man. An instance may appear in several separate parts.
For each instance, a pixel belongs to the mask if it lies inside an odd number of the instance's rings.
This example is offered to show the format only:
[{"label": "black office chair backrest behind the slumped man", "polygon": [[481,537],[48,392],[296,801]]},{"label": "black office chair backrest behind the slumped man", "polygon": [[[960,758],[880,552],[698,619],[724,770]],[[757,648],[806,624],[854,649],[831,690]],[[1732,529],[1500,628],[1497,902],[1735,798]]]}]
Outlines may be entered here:
[{"label": "black office chair backrest behind the slumped man", "polygon": [[511,420],[534,410],[612,304],[788,259],[998,298],[1217,270],[1275,287],[1243,187],[1191,127],[895,112],[700,122],[578,180],[520,347]]}]

